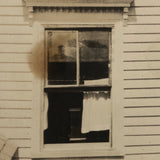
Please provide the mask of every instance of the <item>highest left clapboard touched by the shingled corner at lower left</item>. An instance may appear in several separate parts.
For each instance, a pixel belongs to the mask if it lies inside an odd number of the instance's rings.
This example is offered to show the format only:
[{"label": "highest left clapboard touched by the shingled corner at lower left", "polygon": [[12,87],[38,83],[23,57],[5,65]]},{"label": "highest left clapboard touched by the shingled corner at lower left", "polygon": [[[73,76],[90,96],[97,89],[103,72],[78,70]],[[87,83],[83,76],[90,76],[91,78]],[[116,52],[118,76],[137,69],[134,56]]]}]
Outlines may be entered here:
[{"label": "highest left clapboard touched by the shingled corner at lower left", "polygon": [[31,128],[1,128],[0,134],[7,138],[31,138]]}]

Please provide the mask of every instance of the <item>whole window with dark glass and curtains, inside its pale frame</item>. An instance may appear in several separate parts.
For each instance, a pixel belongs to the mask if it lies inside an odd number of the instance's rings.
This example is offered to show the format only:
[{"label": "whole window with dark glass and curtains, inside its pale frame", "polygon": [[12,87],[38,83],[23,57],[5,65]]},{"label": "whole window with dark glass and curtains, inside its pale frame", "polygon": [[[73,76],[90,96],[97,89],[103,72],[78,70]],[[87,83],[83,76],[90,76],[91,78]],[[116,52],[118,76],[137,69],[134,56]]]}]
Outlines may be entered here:
[{"label": "whole window with dark glass and curtains, inside its pale frame", "polygon": [[44,144],[111,142],[111,29],[46,32]]}]

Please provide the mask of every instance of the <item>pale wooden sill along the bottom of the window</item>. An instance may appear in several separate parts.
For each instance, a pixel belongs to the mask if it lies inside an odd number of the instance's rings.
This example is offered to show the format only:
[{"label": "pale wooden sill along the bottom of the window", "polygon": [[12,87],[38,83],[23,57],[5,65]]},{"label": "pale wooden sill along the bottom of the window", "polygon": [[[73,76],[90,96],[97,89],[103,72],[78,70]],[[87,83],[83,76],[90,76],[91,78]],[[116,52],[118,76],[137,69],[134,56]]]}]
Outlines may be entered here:
[{"label": "pale wooden sill along the bottom of the window", "polygon": [[47,144],[42,152],[34,153],[32,158],[86,158],[86,157],[117,157],[123,158],[122,150],[110,147],[110,144]]}]

